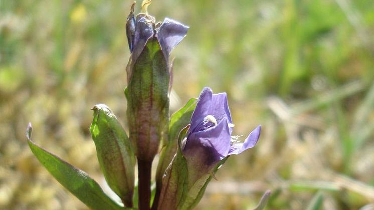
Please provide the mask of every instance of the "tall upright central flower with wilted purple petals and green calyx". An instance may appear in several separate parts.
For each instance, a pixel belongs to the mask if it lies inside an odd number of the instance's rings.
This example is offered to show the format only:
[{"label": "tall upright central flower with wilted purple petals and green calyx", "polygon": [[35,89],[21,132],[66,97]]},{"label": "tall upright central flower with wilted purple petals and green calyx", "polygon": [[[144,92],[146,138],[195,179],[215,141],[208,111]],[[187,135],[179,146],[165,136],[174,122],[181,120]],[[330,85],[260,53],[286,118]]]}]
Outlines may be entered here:
[{"label": "tall upright central flower with wilted purple petals and green calyx", "polygon": [[[132,25],[134,25],[134,30]],[[156,24],[152,16],[131,11],[126,24],[131,57],[126,67],[127,118],[138,159],[151,161],[160,140],[167,139],[169,54],[188,27],[170,19]]]}]

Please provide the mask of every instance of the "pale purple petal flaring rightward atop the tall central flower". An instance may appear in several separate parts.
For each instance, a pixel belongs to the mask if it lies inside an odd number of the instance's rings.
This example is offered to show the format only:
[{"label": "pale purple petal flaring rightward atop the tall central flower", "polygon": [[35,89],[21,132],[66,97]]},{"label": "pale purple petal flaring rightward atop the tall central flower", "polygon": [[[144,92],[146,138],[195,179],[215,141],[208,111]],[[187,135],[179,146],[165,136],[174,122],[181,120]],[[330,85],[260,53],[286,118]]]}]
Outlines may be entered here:
[{"label": "pale purple petal flaring rightward atop the tall central flower", "polygon": [[185,37],[188,29],[188,26],[165,18],[157,33],[157,39],[166,60],[168,60],[170,51]]}]

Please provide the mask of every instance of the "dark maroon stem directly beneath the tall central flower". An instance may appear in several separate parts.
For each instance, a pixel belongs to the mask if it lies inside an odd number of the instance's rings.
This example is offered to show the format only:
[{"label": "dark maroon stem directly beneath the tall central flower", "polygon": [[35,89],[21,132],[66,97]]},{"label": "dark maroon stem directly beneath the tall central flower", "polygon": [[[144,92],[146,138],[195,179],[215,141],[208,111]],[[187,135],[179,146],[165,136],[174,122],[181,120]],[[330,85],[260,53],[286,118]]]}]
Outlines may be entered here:
[{"label": "dark maroon stem directly beneath the tall central flower", "polygon": [[138,159],[138,179],[139,179],[139,210],[150,209],[150,179],[152,161]]}]

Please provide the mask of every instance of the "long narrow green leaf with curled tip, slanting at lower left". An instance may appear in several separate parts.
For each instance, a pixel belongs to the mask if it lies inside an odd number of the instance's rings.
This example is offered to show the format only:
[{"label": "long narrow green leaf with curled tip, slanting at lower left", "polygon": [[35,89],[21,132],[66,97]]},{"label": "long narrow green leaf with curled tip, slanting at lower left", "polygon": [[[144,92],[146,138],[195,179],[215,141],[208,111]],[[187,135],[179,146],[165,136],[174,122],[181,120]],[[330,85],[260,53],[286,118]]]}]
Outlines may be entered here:
[{"label": "long narrow green leaf with curled tip, slanting at lower left", "polygon": [[26,136],[31,151],[43,166],[71,193],[91,209],[124,209],[106,195],[99,184],[88,174],[75,168],[56,155],[39,147],[31,140],[32,126],[29,123]]}]

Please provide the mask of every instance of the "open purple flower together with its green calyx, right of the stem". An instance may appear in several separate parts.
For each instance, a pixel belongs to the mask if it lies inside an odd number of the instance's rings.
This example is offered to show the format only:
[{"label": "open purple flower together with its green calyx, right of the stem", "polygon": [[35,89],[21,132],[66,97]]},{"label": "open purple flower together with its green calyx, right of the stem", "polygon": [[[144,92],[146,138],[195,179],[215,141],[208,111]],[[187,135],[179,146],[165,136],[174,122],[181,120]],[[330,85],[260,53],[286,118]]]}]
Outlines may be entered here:
[{"label": "open purple flower together with its green calyx, right of the stem", "polygon": [[190,127],[182,129],[178,138],[186,137],[162,177],[158,209],[192,209],[224,159],[256,145],[261,126],[243,143],[231,136],[233,127],[226,93],[213,94],[204,88]]}]

